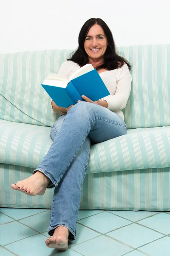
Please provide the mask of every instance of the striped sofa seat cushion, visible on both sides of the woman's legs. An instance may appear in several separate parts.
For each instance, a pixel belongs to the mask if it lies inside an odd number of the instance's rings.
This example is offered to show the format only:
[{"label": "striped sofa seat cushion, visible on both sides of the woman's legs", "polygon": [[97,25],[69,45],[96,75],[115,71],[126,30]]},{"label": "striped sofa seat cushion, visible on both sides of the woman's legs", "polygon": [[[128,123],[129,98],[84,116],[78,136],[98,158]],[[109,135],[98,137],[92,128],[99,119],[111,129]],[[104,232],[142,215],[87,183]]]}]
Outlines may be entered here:
[{"label": "striped sofa seat cushion, visible on both sides of the woman's legs", "polygon": [[[52,140],[49,127],[0,120],[0,163],[36,168]],[[91,146],[87,173],[170,167],[170,127],[137,128]]]}]

